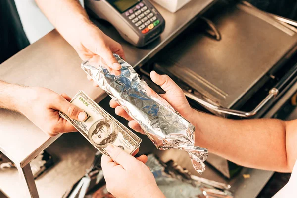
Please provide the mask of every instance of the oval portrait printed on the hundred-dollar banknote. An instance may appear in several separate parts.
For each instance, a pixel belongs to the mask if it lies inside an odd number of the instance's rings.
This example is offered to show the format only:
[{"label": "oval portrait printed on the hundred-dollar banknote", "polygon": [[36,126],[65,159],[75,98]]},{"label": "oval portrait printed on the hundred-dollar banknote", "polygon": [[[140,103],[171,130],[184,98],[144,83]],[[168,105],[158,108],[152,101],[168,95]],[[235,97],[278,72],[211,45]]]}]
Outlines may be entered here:
[{"label": "oval portrait printed on the hundred-dollar banknote", "polygon": [[117,135],[118,129],[116,125],[107,119],[96,121],[88,132],[91,142],[99,147],[106,147],[112,144]]}]

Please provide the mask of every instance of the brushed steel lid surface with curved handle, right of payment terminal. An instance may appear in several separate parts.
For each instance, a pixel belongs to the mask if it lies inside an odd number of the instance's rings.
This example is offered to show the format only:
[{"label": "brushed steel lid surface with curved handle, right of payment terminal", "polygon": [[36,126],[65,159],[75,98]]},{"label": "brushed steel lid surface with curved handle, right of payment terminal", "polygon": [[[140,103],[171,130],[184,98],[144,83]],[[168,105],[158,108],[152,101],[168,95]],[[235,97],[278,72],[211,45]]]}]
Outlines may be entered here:
[{"label": "brushed steel lid surface with curved handle, right of payment terminal", "polygon": [[211,19],[221,33],[220,41],[196,32],[197,23],[179,37],[179,45],[162,54],[167,58],[157,62],[224,108],[243,104],[297,43],[295,32],[281,24],[275,27],[264,21],[271,19],[269,15],[243,6],[228,8]]}]

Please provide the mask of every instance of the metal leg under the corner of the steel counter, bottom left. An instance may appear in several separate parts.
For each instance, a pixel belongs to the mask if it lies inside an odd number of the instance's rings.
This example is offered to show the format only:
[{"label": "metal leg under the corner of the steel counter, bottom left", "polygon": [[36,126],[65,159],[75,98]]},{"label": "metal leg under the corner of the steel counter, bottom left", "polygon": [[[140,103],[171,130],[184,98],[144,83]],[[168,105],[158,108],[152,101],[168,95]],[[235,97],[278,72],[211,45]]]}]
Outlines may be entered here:
[{"label": "metal leg under the corner of the steel counter, bottom left", "polygon": [[31,198],[39,198],[30,163],[23,168],[17,167],[17,169],[26,187],[27,192],[24,193],[26,193],[26,195],[30,193]]}]

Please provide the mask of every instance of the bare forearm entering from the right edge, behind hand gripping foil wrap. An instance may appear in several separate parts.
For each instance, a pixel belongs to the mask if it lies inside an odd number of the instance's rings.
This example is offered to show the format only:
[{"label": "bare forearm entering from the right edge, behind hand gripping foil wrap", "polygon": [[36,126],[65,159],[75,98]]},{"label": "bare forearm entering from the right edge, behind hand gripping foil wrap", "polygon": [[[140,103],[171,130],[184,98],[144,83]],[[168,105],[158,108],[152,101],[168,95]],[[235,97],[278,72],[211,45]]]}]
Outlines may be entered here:
[{"label": "bare forearm entering from the right edge, behind hand gripping foil wrap", "polygon": [[230,120],[194,112],[196,144],[239,165],[287,172],[286,123]]}]

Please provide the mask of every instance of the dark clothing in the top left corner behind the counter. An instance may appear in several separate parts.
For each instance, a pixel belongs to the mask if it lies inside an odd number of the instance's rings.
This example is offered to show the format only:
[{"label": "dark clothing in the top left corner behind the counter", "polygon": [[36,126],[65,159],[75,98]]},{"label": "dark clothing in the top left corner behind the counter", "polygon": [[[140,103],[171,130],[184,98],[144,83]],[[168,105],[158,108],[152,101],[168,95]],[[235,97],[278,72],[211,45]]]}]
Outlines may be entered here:
[{"label": "dark clothing in the top left corner behind the counter", "polygon": [[0,0],[0,64],[29,44],[14,0]]}]

